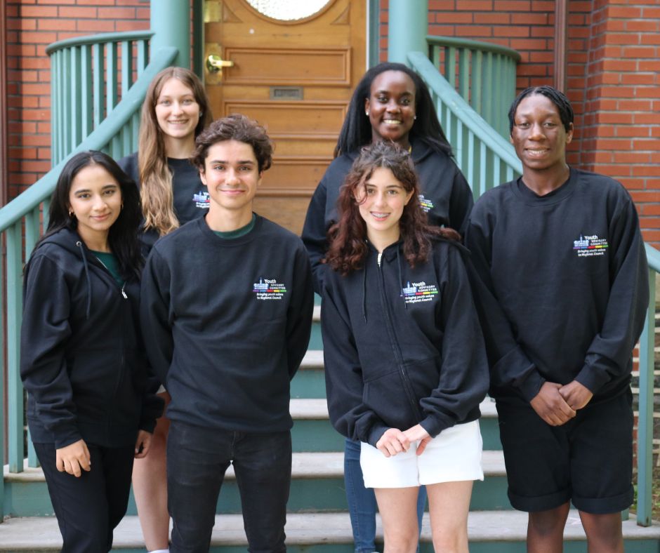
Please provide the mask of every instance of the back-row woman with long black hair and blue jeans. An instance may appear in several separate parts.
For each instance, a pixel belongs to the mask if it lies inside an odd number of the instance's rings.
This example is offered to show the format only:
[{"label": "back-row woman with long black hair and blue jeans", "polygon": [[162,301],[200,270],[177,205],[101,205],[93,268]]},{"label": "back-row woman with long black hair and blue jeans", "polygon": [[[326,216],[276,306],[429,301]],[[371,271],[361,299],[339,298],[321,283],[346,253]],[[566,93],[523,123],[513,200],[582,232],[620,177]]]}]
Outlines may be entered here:
[{"label": "back-row woman with long black hair and blue jeans", "polygon": [[[437,119],[427,86],[418,74],[400,63],[381,63],[364,74],[353,92],[330,164],[312,196],[303,227],[303,242],[310,254],[315,291],[321,293],[321,260],[328,248],[326,233],[337,220],[339,188],[359,149],[391,140],[411,152],[421,192],[419,207],[431,225],[451,227],[461,234],[466,227],[473,195],[468,182],[451,159],[451,146]],[[346,441],[344,474],[355,551],[374,551],[376,500],[364,490],[359,469],[359,444]],[[420,488],[419,517],[425,504]]]}]

